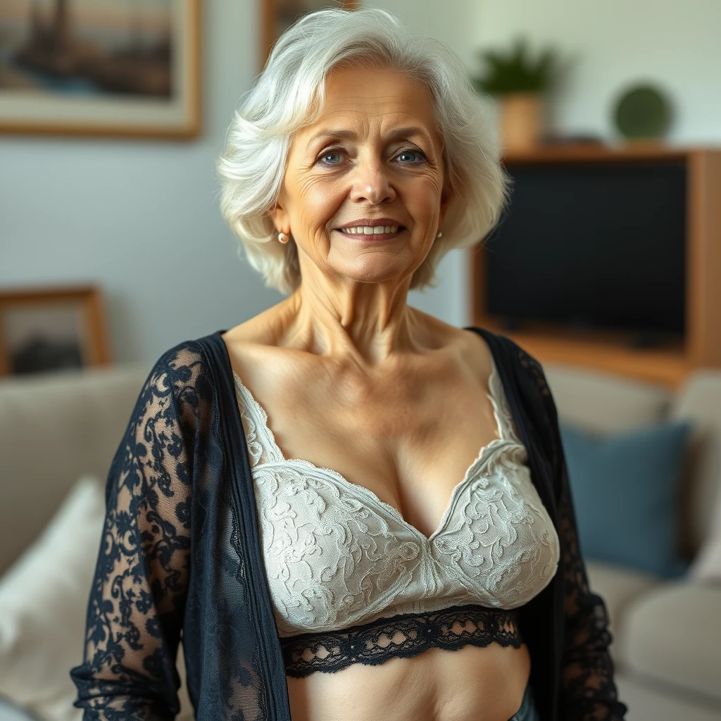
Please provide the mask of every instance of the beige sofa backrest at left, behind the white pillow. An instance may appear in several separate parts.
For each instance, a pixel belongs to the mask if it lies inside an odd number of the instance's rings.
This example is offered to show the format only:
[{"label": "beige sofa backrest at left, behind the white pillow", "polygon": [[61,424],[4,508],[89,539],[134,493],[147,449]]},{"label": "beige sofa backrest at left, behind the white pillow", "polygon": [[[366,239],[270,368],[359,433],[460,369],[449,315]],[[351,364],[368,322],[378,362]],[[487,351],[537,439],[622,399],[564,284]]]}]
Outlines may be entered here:
[{"label": "beige sofa backrest at left, behind the white pillow", "polygon": [[79,477],[105,478],[146,375],[110,366],[0,379],[0,575]]}]

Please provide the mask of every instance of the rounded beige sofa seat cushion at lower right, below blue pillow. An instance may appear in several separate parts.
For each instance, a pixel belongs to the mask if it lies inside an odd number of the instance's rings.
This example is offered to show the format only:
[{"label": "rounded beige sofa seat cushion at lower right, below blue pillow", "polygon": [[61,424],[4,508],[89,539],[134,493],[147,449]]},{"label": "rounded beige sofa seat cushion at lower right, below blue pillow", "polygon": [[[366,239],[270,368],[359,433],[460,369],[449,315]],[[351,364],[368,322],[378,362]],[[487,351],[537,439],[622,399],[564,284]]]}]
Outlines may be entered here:
[{"label": "rounded beige sofa seat cushion at lower right, below blue pillow", "polygon": [[622,619],[629,672],[721,700],[721,588],[660,583]]}]

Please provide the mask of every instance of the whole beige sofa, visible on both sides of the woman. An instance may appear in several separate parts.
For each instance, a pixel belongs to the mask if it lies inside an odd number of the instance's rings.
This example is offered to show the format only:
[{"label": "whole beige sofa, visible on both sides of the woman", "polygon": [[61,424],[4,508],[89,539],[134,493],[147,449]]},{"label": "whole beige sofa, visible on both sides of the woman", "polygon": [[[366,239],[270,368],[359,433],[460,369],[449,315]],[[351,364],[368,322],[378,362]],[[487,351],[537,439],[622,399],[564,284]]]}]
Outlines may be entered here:
[{"label": "whole beige sofa, visible on both sides of the woman", "polygon": [[[0,381],[0,587],[4,572],[43,531],[76,479],[88,473],[105,479],[147,371],[112,368]],[[721,371],[694,373],[675,395],[579,368],[548,365],[547,376],[560,415],[589,430],[610,433],[669,416],[696,422],[683,509],[685,549],[693,557],[711,533],[715,504],[721,504]],[[590,560],[587,565],[591,586],[611,616],[611,653],[629,720],[721,719],[721,586],[691,578],[664,582]],[[69,665],[81,656],[87,592],[81,589],[80,596],[76,606],[82,608],[68,612],[63,623],[63,632],[79,639],[68,652]],[[0,654],[4,647],[0,638]],[[2,682],[0,677],[0,689]],[[38,688],[38,698],[42,692]],[[67,692],[74,693],[69,678]],[[184,688],[180,696],[182,719],[192,718]],[[0,708],[0,721],[2,714]],[[68,702],[63,721],[79,717]]]}]

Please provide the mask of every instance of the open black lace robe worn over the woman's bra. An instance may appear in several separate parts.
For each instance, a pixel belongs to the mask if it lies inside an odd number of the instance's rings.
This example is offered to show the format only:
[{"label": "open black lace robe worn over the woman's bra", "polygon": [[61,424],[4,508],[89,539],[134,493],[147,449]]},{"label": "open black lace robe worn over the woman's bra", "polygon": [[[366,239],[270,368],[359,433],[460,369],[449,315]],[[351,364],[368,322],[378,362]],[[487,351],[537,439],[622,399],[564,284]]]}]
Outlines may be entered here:
[{"label": "open black lace robe worn over the woman's bra", "polygon": [[[556,409],[540,364],[484,329],[557,529],[562,561],[520,609],[541,721],[619,721],[606,606],[588,588]],[[217,331],[155,364],[107,476],[107,513],[71,670],[85,720],[173,719],[182,636],[199,720],[290,721],[245,435]]]}]

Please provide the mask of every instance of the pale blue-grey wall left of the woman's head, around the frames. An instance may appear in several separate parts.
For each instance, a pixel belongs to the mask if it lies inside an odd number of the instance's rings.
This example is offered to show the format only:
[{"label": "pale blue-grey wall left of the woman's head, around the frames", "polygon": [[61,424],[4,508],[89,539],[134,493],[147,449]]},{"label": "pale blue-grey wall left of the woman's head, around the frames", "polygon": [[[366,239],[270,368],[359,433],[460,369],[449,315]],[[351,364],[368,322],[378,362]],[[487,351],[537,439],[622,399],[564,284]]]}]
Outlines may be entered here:
[{"label": "pale blue-grey wall left of the woman's head, around the frames", "polygon": [[236,257],[216,156],[257,73],[257,3],[205,3],[198,141],[0,138],[0,285],[97,281],[118,361],[154,361],[280,300]]}]

